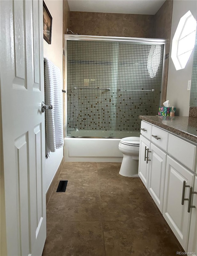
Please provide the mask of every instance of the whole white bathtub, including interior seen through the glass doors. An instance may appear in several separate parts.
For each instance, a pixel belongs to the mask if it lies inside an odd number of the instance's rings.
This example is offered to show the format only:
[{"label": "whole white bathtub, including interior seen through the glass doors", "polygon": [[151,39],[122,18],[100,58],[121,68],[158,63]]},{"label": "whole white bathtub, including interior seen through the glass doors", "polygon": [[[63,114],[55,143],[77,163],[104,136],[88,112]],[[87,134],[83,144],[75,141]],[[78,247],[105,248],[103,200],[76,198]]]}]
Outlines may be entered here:
[{"label": "whole white bathtub, including interior seen through the glass doors", "polygon": [[80,130],[72,131],[71,136],[64,139],[65,162],[122,162],[121,138],[139,137],[140,132]]}]

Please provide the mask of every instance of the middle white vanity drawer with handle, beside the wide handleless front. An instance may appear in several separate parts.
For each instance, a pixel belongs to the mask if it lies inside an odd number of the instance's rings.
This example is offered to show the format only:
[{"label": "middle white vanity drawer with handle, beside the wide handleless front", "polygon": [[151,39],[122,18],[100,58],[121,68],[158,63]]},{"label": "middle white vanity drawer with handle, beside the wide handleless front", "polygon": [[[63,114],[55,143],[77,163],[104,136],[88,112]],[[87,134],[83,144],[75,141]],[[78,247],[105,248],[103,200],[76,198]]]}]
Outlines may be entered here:
[{"label": "middle white vanity drawer with handle, beside the wide handleless front", "polygon": [[160,128],[152,126],[151,141],[158,145],[160,148],[167,150],[168,132]]}]

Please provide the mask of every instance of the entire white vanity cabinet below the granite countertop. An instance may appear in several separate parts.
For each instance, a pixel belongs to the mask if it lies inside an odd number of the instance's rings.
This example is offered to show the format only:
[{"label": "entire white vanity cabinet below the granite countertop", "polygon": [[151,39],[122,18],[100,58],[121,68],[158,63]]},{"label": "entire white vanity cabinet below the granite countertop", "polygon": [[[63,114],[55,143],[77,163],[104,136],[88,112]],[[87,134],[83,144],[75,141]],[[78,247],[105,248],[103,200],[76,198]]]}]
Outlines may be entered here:
[{"label": "entire white vanity cabinet below the granite countertop", "polygon": [[197,254],[196,145],[145,121],[141,128],[139,177],[183,249]]}]

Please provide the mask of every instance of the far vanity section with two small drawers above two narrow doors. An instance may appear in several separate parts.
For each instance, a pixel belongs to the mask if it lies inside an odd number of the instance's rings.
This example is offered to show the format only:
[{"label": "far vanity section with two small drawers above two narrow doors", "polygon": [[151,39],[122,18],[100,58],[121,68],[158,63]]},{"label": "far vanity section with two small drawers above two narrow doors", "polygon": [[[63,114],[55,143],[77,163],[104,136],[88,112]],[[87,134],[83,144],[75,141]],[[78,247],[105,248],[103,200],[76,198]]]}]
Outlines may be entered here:
[{"label": "far vanity section with two small drawers above two narrow doors", "polygon": [[[145,131],[143,131],[142,128]],[[138,174],[155,201],[155,204],[162,212],[167,154],[156,145],[166,149],[168,133],[157,127],[151,127],[151,124],[147,124],[144,121],[141,122],[141,133]],[[146,138],[144,136],[146,136]],[[154,140],[156,145],[150,140]]]}]

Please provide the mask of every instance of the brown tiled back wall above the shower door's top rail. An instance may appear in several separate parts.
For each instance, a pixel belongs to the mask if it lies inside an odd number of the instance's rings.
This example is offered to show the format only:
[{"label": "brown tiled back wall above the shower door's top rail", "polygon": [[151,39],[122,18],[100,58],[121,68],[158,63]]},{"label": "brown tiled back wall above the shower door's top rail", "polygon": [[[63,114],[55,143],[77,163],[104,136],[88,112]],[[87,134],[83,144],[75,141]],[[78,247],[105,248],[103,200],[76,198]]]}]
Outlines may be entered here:
[{"label": "brown tiled back wall above the shower door's top rail", "polygon": [[154,15],[70,12],[70,30],[79,35],[154,37]]}]

